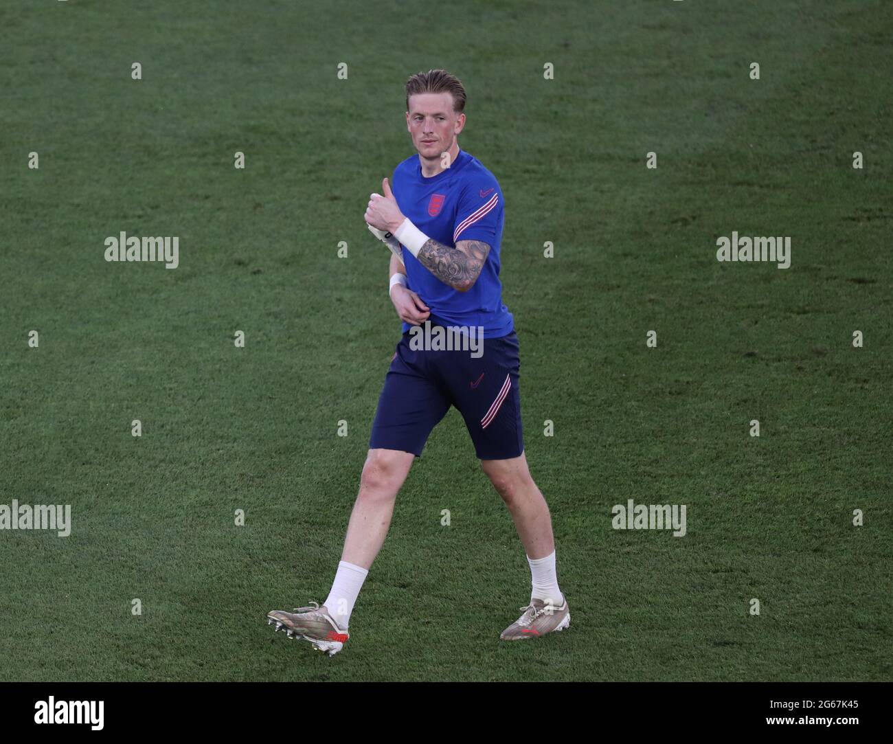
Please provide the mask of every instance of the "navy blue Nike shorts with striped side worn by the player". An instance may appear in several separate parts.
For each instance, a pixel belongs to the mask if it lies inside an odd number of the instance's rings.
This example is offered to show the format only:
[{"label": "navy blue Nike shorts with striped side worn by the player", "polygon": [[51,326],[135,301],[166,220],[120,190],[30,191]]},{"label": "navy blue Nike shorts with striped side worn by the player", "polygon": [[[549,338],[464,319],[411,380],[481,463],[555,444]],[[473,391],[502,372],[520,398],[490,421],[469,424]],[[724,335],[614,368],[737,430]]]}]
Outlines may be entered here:
[{"label": "navy blue Nike shorts with striped side worn by the player", "polygon": [[[437,324],[432,322],[432,327]],[[385,377],[369,447],[420,456],[431,430],[455,405],[481,460],[521,456],[518,336],[513,330],[499,339],[483,339],[482,344],[478,358],[456,348],[416,350],[410,347],[407,330]]]}]

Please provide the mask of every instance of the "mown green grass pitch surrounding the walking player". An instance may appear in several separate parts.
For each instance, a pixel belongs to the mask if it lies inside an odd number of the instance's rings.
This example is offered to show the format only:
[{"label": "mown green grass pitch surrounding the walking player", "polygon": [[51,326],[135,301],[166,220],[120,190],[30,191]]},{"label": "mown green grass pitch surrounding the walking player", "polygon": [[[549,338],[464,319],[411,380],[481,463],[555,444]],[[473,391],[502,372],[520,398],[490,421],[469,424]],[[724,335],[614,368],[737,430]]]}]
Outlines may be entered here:
[{"label": "mown green grass pitch surrounding the walking player", "polygon": [[[893,678],[891,36],[881,0],[4,4],[0,503],[73,524],[0,531],[0,679]],[[433,67],[505,192],[572,625],[498,640],[530,573],[451,411],[329,658],[264,615],[338,564],[399,338],[363,211]],[[179,267],[106,263],[122,230]],[[688,534],[613,530],[629,498]]]}]

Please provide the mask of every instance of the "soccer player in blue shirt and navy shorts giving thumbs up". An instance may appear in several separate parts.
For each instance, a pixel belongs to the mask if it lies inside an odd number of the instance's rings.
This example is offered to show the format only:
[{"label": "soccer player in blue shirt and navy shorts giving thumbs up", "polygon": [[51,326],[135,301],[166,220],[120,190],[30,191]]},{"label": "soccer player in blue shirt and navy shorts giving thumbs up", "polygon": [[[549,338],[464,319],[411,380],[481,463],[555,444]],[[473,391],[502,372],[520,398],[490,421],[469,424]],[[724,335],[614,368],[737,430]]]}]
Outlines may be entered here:
[{"label": "soccer player in blue shirt and navy shorts giving thumbs up", "polygon": [[[348,638],[347,623],[388,534],[396,494],[450,405],[463,415],[480,466],[512,514],[530,564],[530,603],[500,638],[534,638],[571,622],[555,575],[551,515],[524,456],[518,337],[499,281],[502,189],[459,148],[464,107],[463,85],[447,71],[419,72],[406,82],[406,128],[418,155],[396,167],[393,190],[387,178],[382,181],[384,193],[371,195],[365,213],[372,228],[400,243],[393,249],[402,251],[403,263],[391,255],[389,294],[404,333],[381,390],[329,597],[322,606],[267,615],[277,631],[284,628],[330,655]],[[422,323],[469,338],[482,329],[482,354],[470,354],[468,344],[465,350],[419,348],[411,337]]]}]

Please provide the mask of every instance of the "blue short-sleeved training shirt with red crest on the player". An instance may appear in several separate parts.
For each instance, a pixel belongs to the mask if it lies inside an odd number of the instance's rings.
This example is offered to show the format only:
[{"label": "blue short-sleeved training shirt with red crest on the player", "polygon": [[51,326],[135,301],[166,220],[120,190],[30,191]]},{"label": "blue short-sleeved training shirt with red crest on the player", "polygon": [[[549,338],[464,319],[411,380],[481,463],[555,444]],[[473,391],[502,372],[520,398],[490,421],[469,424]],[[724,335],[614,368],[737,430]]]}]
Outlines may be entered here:
[{"label": "blue short-sleeved training shirt with red crest on the player", "polygon": [[[485,339],[511,333],[514,319],[503,305],[499,281],[505,210],[502,189],[493,174],[460,148],[455,163],[425,178],[419,156],[413,155],[396,166],[391,190],[400,211],[429,238],[451,248],[458,240],[480,240],[490,247],[478,280],[467,292],[460,292],[434,276],[404,246],[407,283],[430,307],[431,321],[482,326]],[[404,322],[403,332],[410,328]]]}]

